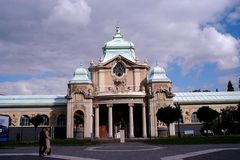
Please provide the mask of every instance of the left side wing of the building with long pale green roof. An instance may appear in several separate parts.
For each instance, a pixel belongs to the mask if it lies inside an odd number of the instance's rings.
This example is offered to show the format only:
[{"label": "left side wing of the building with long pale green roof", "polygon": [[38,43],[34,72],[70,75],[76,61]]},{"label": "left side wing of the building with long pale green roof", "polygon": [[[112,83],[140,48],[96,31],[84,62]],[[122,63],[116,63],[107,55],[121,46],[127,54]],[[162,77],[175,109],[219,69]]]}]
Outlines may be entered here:
[{"label": "left side wing of the building with long pale green roof", "polygon": [[[39,126],[55,127],[55,137],[66,137],[66,106],[64,95],[1,95],[0,114],[10,117],[9,138],[19,134],[22,139],[33,139],[35,129],[30,119],[37,114],[44,122]],[[60,134],[58,131],[64,131]]]}]

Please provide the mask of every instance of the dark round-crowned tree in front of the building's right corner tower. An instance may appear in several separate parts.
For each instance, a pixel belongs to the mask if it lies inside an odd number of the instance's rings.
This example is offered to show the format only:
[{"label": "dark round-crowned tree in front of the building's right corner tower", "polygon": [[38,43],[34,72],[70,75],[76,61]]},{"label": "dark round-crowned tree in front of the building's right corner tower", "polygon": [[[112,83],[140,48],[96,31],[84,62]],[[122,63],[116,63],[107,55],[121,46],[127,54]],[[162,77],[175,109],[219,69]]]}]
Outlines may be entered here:
[{"label": "dark round-crowned tree in front of the building's right corner tower", "polygon": [[170,136],[170,129],[169,126],[171,123],[178,121],[181,117],[181,109],[175,108],[172,106],[167,106],[160,108],[156,114],[157,119],[162,121],[167,125],[168,128],[168,137]]}]

